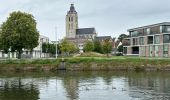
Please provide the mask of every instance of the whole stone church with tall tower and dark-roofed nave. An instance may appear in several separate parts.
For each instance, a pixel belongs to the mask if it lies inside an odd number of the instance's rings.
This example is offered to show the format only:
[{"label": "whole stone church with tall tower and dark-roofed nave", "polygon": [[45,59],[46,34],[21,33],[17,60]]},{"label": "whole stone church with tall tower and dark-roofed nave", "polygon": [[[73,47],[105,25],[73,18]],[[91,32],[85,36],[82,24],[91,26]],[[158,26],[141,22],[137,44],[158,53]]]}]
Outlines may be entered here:
[{"label": "whole stone church with tall tower and dark-roofed nave", "polygon": [[83,52],[84,43],[87,40],[94,40],[96,36],[95,28],[79,28],[78,13],[74,4],[71,4],[70,10],[66,15],[66,39],[76,44],[80,52]]}]

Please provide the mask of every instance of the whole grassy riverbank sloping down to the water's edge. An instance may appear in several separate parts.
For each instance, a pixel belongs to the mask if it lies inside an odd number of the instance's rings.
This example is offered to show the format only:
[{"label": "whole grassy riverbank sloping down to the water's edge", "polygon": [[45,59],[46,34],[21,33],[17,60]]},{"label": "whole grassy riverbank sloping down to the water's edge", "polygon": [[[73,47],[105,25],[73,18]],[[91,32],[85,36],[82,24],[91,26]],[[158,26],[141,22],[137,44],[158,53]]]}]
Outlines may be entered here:
[{"label": "whole grassy riverbank sloping down to the water's edge", "polygon": [[[62,59],[1,60],[0,71],[56,71]],[[68,71],[170,71],[168,58],[71,57],[64,59]]]}]

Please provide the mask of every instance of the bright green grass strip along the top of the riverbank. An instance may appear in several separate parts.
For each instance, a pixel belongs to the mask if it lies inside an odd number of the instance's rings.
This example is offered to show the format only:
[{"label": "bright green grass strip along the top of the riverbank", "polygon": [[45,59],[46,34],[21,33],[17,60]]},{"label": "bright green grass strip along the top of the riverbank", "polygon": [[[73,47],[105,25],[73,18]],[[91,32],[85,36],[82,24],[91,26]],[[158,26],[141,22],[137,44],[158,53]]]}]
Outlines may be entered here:
[{"label": "bright green grass strip along the top of the riverbank", "polygon": [[[21,59],[21,60],[0,60],[0,64],[59,64],[59,59]],[[65,58],[67,63],[114,63],[124,65],[170,65],[169,58],[145,58],[145,57],[124,57],[124,56],[113,56],[113,57],[67,57]]]}]

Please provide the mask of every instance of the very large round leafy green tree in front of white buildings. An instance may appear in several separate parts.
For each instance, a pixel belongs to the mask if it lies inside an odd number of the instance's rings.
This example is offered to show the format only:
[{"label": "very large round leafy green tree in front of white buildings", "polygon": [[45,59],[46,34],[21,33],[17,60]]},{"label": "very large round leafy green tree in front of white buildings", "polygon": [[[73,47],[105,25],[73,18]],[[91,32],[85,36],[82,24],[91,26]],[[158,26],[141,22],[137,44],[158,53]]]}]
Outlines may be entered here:
[{"label": "very large round leafy green tree in front of white buildings", "polygon": [[2,24],[0,34],[2,50],[17,51],[19,59],[23,49],[32,51],[38,45],[39,32],[36,29],[36,21],[28,13],[12,12]]}]

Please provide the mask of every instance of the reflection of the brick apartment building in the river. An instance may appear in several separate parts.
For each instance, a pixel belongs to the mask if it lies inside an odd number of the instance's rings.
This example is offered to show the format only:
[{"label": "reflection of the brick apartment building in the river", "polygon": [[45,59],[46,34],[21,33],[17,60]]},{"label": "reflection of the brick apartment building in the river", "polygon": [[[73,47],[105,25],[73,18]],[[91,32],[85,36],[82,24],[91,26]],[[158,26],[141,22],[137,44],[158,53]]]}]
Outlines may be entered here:
[{"label": "reflection of the brick apartment building in the river", "polygon": [[170,100],[169,73],[138,73],[129,79],[129,95],[144,100]]}]

